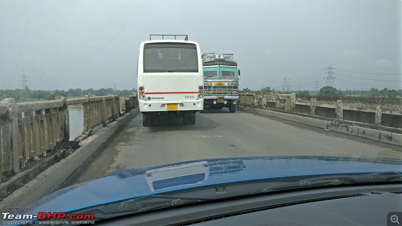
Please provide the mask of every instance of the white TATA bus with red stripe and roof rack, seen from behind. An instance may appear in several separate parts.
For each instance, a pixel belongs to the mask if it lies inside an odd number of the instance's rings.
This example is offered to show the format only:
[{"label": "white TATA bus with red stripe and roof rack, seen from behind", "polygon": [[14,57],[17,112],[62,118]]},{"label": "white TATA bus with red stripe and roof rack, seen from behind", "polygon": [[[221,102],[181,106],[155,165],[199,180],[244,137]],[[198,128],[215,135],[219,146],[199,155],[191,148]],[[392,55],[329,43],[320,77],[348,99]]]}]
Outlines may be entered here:
[{"label": "white TATA bus with red stripe and roof rack, seen from behind", "polygon": [[204,109],[204,72],[196,42],[175,39],[144,41],[138,56],[137,80],[143,126],[156,118],[182,118],[195,124]]}]

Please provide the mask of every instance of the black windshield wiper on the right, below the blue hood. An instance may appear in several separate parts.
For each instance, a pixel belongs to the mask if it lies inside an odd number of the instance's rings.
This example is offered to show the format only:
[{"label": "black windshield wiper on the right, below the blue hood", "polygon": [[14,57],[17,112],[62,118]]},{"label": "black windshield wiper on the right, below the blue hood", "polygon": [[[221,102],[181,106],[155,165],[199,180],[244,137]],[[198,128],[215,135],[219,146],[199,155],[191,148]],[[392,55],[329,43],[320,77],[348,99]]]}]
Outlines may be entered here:
[{"label": "black windshield wiper on the right, below the blue hood", "polygon": [[[280,185],[268,187],[267,191],[279,191],[292,188],[317,187],[327,185],[355,184],[355,183],[380,183],[402,181],[402,174],[396,172],[366,173],[359,175],[331,175],[303,179],[296,182],[285,182]],[[277,183],[276,183],[277,184]]]}]

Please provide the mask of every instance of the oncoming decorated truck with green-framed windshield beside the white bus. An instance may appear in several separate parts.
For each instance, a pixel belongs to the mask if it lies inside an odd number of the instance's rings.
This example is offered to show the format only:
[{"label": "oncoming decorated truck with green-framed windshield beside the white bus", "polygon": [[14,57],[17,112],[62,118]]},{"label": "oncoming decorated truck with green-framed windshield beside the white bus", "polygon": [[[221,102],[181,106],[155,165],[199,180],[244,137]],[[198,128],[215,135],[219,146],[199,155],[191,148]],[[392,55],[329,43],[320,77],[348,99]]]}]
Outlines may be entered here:
[{"label": "oncoming decorated truck with green-framed windshield beside the white bus", "polygon": [[233,54],[205,53],[204,67],[204,106],[214,109],[228,107],[236,111],[239,99],[240,70],[233,60]]}]

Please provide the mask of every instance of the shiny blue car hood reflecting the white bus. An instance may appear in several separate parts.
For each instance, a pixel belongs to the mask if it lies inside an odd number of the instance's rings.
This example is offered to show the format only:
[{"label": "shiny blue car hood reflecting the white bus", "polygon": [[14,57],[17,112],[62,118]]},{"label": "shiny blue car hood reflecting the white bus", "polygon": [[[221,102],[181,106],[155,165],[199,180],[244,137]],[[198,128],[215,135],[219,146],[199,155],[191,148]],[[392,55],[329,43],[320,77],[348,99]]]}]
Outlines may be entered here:
[{"label": "shiny blue car hood reflecting the white bus", "polygon": [[206,159],[135,168],[56,191],[28,207],[38,212],[69,212],[111,201],[197,186],[301,175],[402,171],[395,159],[270,156]]}]

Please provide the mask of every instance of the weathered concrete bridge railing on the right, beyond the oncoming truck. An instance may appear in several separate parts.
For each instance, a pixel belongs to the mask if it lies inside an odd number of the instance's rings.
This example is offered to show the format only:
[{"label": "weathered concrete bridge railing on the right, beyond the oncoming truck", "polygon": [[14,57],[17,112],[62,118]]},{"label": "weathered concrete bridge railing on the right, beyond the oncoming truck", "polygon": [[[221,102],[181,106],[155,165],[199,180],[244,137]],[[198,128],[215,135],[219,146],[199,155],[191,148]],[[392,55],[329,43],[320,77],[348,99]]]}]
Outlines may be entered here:
[{"label": "weathered concrete bridge railing on the right, beyond the oncoming truck", "polygon": [[402,128],[401,98],[239,93],[239,104]]}]

